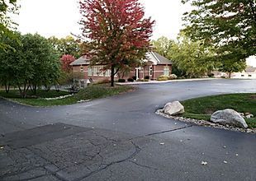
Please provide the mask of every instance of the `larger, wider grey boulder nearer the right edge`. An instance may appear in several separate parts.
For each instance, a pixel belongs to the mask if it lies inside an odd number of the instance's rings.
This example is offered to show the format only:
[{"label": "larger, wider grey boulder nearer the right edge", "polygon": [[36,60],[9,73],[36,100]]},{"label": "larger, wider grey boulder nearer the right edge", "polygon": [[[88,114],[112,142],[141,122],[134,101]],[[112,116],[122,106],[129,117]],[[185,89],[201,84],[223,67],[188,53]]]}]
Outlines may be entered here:
[{"label": "larger, wider grey boulder nearer the right edge", "polygon": [[211,114],[211,122],[223,125],[235,126],[238,128],[248,128],[244,118],[233,109],[218,110]]}]

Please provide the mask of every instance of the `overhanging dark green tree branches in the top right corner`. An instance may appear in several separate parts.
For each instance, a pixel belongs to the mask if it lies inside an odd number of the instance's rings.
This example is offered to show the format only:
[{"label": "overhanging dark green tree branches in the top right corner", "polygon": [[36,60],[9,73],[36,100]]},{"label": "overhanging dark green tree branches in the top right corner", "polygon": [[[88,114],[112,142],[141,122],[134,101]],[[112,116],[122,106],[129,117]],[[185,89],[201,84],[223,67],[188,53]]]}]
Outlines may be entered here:
[{"label": "overhanging dark green tree branches in the top right corner", "polygon": [[256,2],[253,0],[183,0],[192,2],[192,12],[185,13],[184,32],[214,46],[217,60],[243,62],[256,54]]}]

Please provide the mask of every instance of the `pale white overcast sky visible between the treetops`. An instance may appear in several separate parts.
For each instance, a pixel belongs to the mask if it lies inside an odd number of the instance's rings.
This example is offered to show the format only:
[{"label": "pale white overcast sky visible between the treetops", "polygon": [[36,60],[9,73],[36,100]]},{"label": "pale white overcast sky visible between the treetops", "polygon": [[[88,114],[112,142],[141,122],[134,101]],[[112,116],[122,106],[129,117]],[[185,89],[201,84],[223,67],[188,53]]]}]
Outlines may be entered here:
[{"label": "pale white overcast sky visible between the treetops", "polygon": [[[151,16],[156,24],[152,39],[166,36],[176,39],[183,27],[183,13],[190,10],[181,0],[140,0],[145,7],[145,16]],[[22,34],[38,33],[46,38],[55,35],[58,38],[67,35],[81,35],[81,20],[78,0],[20,0],[20,13],[14,16]],[[248,63],[256,67],[256,59]]]}]

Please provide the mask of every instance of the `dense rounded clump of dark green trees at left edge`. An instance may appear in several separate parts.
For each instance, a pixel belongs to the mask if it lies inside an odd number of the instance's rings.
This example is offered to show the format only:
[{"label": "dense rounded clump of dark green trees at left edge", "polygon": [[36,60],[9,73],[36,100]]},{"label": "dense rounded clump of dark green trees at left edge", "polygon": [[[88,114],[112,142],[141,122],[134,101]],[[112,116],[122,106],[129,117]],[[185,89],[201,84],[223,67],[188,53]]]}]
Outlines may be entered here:
[{"label": "dense rounded clump of dark green trees at left edge", "polygon": [[19,35],[21,44],[13,39],[2,39],[16,49],[0,51],[0,80],[6,86],[17,86],[26,97],[31,88],[34,94],[40,86],[50,86],[59,77],[59,60],[49,41],[40,35]]}]

